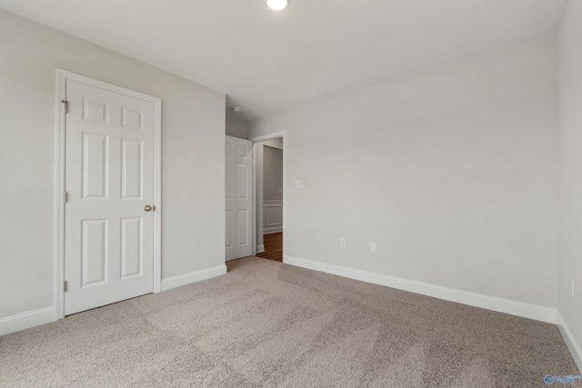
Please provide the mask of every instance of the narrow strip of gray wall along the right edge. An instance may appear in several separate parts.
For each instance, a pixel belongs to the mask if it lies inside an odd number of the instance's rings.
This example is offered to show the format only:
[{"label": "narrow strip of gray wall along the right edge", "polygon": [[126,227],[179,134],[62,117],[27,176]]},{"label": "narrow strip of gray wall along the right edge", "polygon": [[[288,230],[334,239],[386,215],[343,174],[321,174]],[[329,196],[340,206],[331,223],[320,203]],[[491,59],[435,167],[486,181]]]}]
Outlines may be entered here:
[{"label": "narrow strip of gray wall along the right edge", "polygon": [[[560,246],[559,311],[582,344],[582,2],[570,1],[559,42]],[[576,294],[571,296],[571,279]]]}]

